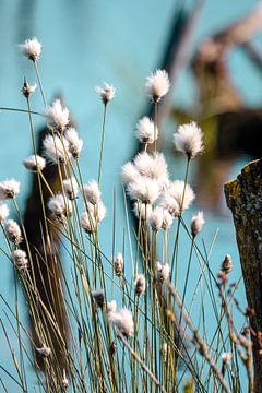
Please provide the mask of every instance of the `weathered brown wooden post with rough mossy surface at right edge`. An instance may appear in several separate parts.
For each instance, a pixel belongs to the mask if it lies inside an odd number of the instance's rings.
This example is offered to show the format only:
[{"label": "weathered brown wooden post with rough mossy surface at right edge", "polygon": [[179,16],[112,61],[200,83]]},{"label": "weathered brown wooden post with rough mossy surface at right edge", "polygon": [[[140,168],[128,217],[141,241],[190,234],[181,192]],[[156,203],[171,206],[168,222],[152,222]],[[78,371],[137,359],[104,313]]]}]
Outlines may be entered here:
[{"label": "weathered brown wooden post with rough mossy surface at right edge", "polygon": [[[262,332],[262,159],[246,165],[236,180],[225,184],[227,206],[233,213],[248,306],[255,314],[250,323]],[[262,392],[262,356],[252,335],[254,391]]]}]

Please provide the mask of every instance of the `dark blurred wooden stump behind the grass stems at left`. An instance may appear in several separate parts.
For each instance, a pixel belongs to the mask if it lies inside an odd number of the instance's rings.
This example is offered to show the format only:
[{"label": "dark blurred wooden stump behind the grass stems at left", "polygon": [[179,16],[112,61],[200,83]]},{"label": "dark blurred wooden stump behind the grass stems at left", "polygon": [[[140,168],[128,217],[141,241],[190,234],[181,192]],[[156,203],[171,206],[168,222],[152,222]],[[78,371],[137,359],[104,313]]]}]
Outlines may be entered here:
[{"label": "dark blurred wooden stump behind the grass stems at left", "polygon": [[[43,141],[48,133],[49,131],[46,128],[39,133],[37,154],[43,153]],[[43,174],[50,189],[55,193],[62,189],[61,179],[56,165],[48,164],[43,170]],[[47,207],[49,198],[51,196],[50,191],[45,182],[39,179],[41,182],[43,201],[45,205],[44,213],[40,202],[39,181],[36,174],[33,174],[32,176],[32,190],[24,213],[24,227],[32,255],[29,274],[35,282],[36,290],[40,297],[38,312],[41,320],[41,326],[45,330],[43,336],[47,337],[46,340],[48,340],[48,342],[46,344],[52,348],[53,355],[58,359],[61,359],[60,366],[62,370],[67,367],[61,354],[64,350],[64,345],[67,345],[68,327],[63,295],[59,285],[61,282],[60,236],[59,231],[55,230],[55,227],[50,224],[52,217]],[[48,235],[45,229],[45,221],[47,221]],[[27,252],[25,242],[22,243],[22,248]],[[56,329],[46,312],[56,319]],[[59,334],[57,330],[59,330]],[[39,327],[32,318],[31,331],[34,345],[36,347],[41,347],[44,338],[37,333],[39,332]],[[37,353],[36,356],[38,366],[43,368],[43,357],[38,356]]]}]

